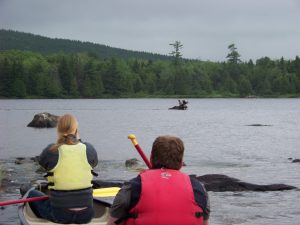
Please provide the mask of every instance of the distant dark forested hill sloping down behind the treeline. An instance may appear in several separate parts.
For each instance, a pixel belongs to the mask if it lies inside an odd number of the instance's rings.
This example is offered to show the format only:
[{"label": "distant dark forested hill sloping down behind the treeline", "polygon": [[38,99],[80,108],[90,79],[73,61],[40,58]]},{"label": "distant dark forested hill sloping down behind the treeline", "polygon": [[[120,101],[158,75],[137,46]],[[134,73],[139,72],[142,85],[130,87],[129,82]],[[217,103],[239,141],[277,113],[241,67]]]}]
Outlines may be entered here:
[{"label": "distant dark forested hill sloping down behind the treeline", "polygon": [[39,52],[43,55],[51,53],[78,53],[90,52],[101,58],[139,58],[150,60],[170,60],[167,55],[153,54],[147,52],[130,51],[120,48],[113,48],[102,44],[82,42],[76,40],[48,38],[31,33],[24,33],[12,30],[0,30],[0,51],[4,50],[27,50]]}]

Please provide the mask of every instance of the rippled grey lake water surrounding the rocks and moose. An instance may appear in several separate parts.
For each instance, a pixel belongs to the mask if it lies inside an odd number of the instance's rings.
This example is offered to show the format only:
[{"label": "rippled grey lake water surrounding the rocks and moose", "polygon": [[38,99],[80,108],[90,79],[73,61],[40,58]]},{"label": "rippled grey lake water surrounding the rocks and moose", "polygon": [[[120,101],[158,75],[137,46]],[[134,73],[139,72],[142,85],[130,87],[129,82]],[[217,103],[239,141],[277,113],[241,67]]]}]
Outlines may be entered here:
[{"label": "rippled grey lake water surrounding the rocks and moose", "polygon": [[[2,166],[16,174],[27,171],[27,177],[17,179],[34,177],[30,166],[18,169],[13,158],[38,155],[56,140],[56,130],[27,124],[40,112],[72,113],[81,138],[98,152],[99,178],[137,175],[124,166],[126,159],[140,159],[128,134],[136,135],[147,155],[155,137],[171,134],[185,142],[183,170],[188,174],[217,173],[300,188],[300,164],[288,160],[300,158],[300,99],[189,99],[188,110],[168,110],[174,105],[177,99],[0,100]],[[251,124],[268,126],[247,126]],[[300,191],[209,195],[210,224],[300,224]],[[1,194],[1,199],[15,196]],[[17,218],[16,206],[0,211],[0,224],[15,224]]]}]

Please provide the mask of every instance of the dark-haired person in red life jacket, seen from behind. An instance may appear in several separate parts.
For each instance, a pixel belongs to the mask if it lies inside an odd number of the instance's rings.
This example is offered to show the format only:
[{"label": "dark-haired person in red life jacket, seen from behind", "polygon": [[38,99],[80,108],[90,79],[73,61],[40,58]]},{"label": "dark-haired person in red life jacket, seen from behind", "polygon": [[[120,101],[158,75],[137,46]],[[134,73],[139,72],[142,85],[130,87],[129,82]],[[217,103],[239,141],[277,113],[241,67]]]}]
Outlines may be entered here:
[{"label": "dark-haired person in red life jacket, seen from behind", "polygon": [[183,155],[180,138],[157,137],[150,157],[152,168],[122,186],[107,225],[208,225],[208,194],[198,180],[180,171]]}]

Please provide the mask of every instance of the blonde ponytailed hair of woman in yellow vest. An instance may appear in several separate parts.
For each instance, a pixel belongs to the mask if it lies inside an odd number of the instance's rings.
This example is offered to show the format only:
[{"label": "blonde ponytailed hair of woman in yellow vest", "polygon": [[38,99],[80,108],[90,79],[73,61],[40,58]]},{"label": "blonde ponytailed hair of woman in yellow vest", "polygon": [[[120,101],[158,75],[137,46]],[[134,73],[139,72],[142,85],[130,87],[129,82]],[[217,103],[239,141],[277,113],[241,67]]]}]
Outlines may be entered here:
[{"label": "blonde ponytailed hair of woman in yellow vest", "polygon": [[57,141],[51,147],[51,150],[57,151],[59,146],[63,144],[77,144],[77,129],[78,129],[78,122],[75,116],[71,114],[65,114],[58,119],[57,123]]}]

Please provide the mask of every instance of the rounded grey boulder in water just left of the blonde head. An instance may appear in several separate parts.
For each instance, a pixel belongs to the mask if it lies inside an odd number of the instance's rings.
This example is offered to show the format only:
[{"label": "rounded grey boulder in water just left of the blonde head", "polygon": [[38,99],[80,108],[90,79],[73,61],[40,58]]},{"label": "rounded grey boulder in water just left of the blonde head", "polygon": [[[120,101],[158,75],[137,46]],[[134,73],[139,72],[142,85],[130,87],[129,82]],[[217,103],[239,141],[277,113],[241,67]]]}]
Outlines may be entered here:
[{"label": "rounded grey boulder in water just left of the blonde head", "polygon": [[27,127],[36,128],[48,128],[56,127],[59,116],[52,115],[47,112],[38,113],[34,115],[33,120],[27,125]]}]

